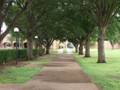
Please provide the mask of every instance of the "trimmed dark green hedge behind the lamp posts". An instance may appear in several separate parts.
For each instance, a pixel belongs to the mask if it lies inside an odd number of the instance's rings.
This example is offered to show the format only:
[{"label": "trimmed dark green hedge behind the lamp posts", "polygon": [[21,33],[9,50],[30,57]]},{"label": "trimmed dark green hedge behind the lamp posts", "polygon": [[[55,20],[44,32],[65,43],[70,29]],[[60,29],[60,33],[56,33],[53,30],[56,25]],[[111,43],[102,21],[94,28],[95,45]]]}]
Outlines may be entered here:
[{"label": "trimmed dark green hedge behind the lamp posts", "polygon": [[[33,55],[39,55],[40,51],[37,49],[33,50]],[[27,50],[20,49],[18,51],[19,58],[26,58],[27,57]],[[13,61],[16,58],[16,50],[15,49],[7,49],[7,50],[0,50],[0,63],[6,63],[8,61]]]}]

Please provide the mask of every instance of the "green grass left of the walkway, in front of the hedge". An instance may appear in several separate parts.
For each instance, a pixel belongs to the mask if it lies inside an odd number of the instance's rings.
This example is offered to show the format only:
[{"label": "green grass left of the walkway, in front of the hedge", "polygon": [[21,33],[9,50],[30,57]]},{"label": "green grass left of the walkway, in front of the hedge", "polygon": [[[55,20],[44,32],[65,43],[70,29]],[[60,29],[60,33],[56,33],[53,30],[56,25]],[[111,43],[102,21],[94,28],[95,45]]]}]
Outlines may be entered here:
[{"label": "green grass left of the walkway, in front of the hedge", "polygon": [[[23,65],[28,65],[36,62],[41,63],[50,61],[51,59],[46,58],[32,61],[23,61],[19,63],[22,63]],[[0,68],[0,83],[25,83],[42,68],[42,66],[9,66],[5,68]]]}]

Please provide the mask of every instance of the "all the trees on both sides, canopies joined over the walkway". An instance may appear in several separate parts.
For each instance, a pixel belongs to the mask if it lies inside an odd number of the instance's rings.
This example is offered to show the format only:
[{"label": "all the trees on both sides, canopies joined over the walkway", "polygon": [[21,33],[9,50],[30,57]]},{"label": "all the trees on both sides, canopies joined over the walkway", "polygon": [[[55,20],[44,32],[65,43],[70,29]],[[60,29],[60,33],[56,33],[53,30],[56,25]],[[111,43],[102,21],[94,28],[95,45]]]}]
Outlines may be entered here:
[{"label": "all the trees on both sides, canopies joined over the walkway", "polygon": [[0,41],[18,27],[28,41],[28,59],[33,59],[35,35],[39,37],[36,48],[44,45],[46,54],[54,40],[69,40],[76,52],[80,45],[80,55],[85,45],[85,57],[90,57],[90,42],[97,40],[98,63],[105,63],[104,40],[109,39],[113,47],[119,41],[119,15],[118,0],[2,0],[0,26],[6,22],[7,29]]}]

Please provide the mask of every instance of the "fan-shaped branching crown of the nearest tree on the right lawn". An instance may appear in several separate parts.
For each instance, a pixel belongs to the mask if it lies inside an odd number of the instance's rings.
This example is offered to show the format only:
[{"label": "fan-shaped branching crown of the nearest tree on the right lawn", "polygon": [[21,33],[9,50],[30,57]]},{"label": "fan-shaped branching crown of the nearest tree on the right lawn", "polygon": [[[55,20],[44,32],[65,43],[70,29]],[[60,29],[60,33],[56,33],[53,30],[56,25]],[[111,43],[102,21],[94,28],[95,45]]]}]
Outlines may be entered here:
[{"label": "fan-shaped branching crown of the nearest tree on the right lawn", "polygon": [[118,12],[120,1],[114,0],[87,0],[91,6],[91,17],[98,27],[106,27],[111,18]]}]

